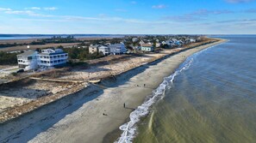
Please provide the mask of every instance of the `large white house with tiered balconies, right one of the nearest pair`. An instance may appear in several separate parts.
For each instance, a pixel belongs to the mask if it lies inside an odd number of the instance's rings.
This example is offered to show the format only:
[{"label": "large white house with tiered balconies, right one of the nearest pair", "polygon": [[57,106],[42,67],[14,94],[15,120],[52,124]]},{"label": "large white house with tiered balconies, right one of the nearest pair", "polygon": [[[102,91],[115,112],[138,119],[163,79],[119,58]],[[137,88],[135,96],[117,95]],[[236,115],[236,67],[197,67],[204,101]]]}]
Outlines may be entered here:
[{"label": "large white house with tiered balconies, right one of the nearest pair", "polygon": [[68,54],[61,49],[46,49],[37,55],[37,64],[39,66],[53,67],[65,64],[67,58]]}]

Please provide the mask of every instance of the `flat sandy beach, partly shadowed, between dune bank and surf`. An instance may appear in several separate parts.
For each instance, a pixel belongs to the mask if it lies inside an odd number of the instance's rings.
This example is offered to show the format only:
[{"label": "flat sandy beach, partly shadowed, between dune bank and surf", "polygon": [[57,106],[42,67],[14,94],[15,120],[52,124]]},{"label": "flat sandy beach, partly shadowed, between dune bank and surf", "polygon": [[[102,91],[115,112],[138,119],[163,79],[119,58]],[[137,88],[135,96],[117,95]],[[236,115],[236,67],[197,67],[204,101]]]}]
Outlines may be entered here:
[{"label": "flat sandy beach, partly shadowed, between dune bank and surf", "polygon": [[[10,134],[3,141],[113,142],[122,134],[121,131],[117,131],[117,133],[115,131],[123,123],[129,121],[130,113],[153,94],[153,90],[161,84],[165,77],[172,74],[193,53],[222,42],[225,40],[201,45],[145,64],[117,76],[114,82],[105,80],[102,86],[107,88],[96,93],[90,92],[91,96],[81,96],[81,102],[70,100],[71,104],[65,110],[54,112],[49,110],[53,115],[49,114],[45,116],[44,120],[21,128],[18,134]],[[88,94],[88,92],[86,93]],[[79,94],[85,93],[80,92]],[[123,108],[124,103],[126,108]],[[58,109],[59,104],[52,105],[51,108]],[[26,119],[22,120],[26,121]],[[36,120],[36,117],[29,118],[27,122],[31,120]]]}]

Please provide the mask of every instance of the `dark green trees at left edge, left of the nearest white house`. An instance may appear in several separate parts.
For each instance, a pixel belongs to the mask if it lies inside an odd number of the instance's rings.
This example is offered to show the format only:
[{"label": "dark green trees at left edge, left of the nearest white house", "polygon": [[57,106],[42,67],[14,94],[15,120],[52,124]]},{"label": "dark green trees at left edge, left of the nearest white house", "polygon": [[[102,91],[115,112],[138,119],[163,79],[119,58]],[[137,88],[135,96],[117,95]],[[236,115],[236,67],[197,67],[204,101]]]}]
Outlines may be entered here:
[{"label": "dark green trees at left edge, left of the nearest white house", "polygon": [[0,51],[0,65],[17,63],[17,53],[7,53]]}]

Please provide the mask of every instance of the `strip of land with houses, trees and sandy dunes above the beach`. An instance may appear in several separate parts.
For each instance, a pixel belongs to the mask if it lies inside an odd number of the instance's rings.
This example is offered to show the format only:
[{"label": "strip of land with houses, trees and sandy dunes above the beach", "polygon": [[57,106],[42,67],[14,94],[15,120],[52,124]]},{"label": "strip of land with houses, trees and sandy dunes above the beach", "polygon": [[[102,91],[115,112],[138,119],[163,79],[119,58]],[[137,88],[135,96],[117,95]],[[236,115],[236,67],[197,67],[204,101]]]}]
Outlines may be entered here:
[{"label": "strip of land with houses, trees and sandy dunes above the beach", "polygon": [[203,36],[128,36],[84,40],[67,47],[30,49],[24,45],[24,51],[6,52],[16,54],[16,63],[0,67],[0,122],[29,115],[79,92],[90,97],[128,71],[181,51],[222,42]]}]

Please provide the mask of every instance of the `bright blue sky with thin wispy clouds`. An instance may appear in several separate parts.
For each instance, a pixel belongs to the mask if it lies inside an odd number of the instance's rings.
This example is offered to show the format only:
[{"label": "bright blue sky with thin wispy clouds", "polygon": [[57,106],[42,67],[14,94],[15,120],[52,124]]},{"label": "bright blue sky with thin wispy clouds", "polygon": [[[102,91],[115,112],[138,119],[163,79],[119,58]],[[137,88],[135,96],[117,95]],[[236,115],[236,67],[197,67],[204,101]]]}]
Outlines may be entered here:
[{"label": "bright blue sky with thin wispy clouds", "polygon": [[0,0],[0,33],[256,34],[256,0]]}]

